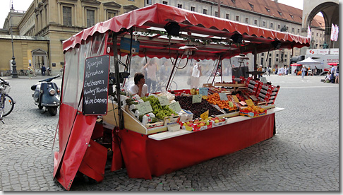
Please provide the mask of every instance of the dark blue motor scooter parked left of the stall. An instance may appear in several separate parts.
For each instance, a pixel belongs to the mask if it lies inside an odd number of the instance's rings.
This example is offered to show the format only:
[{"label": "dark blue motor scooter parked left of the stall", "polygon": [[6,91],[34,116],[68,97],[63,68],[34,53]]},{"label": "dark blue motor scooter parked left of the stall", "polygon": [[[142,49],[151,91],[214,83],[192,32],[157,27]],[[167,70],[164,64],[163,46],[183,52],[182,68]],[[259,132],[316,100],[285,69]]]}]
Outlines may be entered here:
[{"label": "dark blue motor scooter parked left of the stall", "polygon": [[57,75],[46,78],[31,86],[31,90],[35,91],[32,94],[35,105],[38,105],[40,110],[45,107],[45,112],[48,111],[52,116],[57,114],[57,108],[59,107],[59,87],[56,83],[52,82],[52,80],[59,77],[60,76]]}]

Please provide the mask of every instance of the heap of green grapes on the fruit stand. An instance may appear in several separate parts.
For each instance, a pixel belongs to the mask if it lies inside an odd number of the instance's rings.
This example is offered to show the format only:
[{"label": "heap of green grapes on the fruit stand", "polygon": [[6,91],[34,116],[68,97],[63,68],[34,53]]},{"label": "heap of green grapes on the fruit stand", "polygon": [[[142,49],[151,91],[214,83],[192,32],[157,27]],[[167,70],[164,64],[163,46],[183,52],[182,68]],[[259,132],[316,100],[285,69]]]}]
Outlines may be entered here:
[{"label": "heap of green grapes on the fruit stand", "polygon": [[170,117],[172,114],[177,115],[168,105],[162,106],[158,98],[150,95],[148,97],[141,98],[144,102],[149,101],[152,107],[152,113],[155,114],[157,119],[164,119],[164,117]]}]

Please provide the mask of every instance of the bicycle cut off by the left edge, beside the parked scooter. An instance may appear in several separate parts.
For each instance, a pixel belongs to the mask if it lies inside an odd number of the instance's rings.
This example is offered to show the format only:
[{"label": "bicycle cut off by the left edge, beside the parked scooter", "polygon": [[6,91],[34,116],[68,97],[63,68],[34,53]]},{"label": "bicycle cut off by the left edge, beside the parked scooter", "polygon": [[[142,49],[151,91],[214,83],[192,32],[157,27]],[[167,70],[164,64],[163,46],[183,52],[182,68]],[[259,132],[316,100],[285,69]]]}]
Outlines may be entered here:
[{"label": "bicycle cut off by the left edge, beside the parked scooter", "polygon": [[10,84],[2,78],[0,78],[0,80],[0,120],[5,124],[2,119],[12,112],[16,102],[14,102],[13,98],[8,95],[11,90]]}]

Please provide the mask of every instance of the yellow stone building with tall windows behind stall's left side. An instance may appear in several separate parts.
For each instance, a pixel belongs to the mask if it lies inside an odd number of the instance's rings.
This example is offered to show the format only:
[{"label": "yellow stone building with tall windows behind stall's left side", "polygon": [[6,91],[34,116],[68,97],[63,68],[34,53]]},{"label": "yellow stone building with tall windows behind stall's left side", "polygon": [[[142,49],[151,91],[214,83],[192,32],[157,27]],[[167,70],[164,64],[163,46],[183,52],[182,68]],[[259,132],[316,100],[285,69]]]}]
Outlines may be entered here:
[{"label": "yellow stone building with tall windows behind stall's left side", "polygon": [[[4,23],[6,30],[0,31],[1,45],[8,45],[4,50],[6,57],[2,58],[0,54],[0,71],[8,71],[9,65],[6,64],[12,57],[11,38],[1,38],[1,35],[11,37],[11,26],[13,35],[18,35],[13,41],[17,71],[28,69],[30,63],[37,70],[44,64],[54,75],[64,64],[64,40],[98,22],[143,6],[142,0],[34,0],[20,21],[13,20],[15,11],[8,13]],[[23,42],[28,39],[32,41],[25,46]]]}]

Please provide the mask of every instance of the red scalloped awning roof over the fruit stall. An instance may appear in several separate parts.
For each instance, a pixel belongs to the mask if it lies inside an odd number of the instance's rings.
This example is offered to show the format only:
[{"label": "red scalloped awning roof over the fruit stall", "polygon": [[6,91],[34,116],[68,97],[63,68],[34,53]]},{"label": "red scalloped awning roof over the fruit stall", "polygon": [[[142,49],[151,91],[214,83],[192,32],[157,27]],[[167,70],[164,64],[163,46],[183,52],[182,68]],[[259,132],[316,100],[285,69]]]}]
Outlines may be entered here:
[{"label": "red scalloped awning roof over the fruit stall", "polygon": [[[167,33],[164,33],[164,25],[171,21],[180,25],[180,35],[172,37],[169,42]],[[193,58],[197,59],[217,59],[218,56],[231,58],[237,54],[309,46],[307,37],[207,16],[174,6],[153,4],[78,32],[64,41],[63,49],[66,51],[75,47],[96,32],[107,31],[123,32],[118,35],[119,45],[121,37],[131,37],[128,29],[133,30],[133,38],[140,42],[138,55],[141,57],[176,57],[176,54],[182,53],[179,47],[188,43],[198,48],[193,54]],[[241,36],[243,42],[234,42],[231,37],[234,34]]]}]

